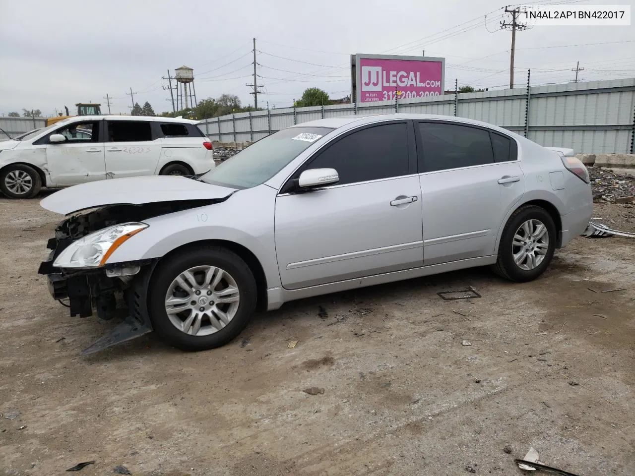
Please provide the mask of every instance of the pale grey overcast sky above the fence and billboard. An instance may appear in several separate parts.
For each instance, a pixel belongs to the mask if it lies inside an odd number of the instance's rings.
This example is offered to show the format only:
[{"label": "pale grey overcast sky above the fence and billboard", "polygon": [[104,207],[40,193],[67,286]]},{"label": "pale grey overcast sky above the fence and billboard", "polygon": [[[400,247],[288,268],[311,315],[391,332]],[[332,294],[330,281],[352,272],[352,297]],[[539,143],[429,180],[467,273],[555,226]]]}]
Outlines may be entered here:
[{"label": "pale grey overcast sky above the fence and billboard", "polygon": [[[556,3],[538,0],[535,3]],[[561,1],[561,0],[560,0]],[[561,3],[564,3],[561,1]],[[569,1],[580,5],[635,0]],[[222,93],[253,104],[252,38],[257,39],[258,106],[291,105],[318,86],[350,93],[349,55],[443,56],[446,89],[509,87],[511,32],[498,0],[0,0],[0,114],[23,108],[72,111],[112,96],[113,114],[149,101],[171,109],[163,89],[174,69],[194,69],[198,100]],[[601,44],[599,44],[601,43]],[[635,26],[533,27],[516,35],[516,84],[635,77]]]}]

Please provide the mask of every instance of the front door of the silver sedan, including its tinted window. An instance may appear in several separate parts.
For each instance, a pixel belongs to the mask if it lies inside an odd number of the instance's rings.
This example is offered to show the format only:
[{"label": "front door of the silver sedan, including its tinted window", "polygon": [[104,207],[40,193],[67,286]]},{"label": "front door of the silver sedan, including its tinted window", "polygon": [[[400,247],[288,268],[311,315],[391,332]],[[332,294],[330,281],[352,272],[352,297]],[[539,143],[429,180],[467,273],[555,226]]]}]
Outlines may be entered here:
[{"label": "front door of the silver sedan, including its tinted window", "polygon": [[340,181],[276,198],[276,254],[284,288],[297,289],[420,267],[420,187],[413,124],[382,123],[328,143],[305,169],[334,168]]}]

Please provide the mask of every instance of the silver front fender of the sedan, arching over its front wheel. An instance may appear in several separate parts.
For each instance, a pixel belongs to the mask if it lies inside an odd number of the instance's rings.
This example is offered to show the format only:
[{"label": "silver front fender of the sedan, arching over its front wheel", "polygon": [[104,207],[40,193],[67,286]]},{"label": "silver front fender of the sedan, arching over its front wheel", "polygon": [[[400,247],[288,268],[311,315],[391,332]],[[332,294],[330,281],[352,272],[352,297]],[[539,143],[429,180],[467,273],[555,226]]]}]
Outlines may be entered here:
[{"label": "silver front fender of the sedan, arching over its front wheel", "polygon": [[225,202],[149,218],[144,222],[150,226],[123,242],[107,264],[161,258],[192,242],[225,240],[244,246],[256,256],[267,287],[280,286],[274,241],[275,199],[276,190],[260,185],[241,190]]}]

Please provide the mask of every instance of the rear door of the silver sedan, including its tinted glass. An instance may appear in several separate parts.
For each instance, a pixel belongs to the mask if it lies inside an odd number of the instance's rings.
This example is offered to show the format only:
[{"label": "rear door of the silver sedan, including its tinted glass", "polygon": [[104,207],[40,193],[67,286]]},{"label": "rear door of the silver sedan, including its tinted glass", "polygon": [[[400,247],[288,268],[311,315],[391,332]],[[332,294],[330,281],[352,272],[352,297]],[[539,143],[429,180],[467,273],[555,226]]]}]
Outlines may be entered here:
[{"label": "rear door of the silver sedan, including its tinted glass", "polygon": [[457,122],[420,121],[417,132],[424,265],[493,255],[505,215],[525,192],[516,141]]}]

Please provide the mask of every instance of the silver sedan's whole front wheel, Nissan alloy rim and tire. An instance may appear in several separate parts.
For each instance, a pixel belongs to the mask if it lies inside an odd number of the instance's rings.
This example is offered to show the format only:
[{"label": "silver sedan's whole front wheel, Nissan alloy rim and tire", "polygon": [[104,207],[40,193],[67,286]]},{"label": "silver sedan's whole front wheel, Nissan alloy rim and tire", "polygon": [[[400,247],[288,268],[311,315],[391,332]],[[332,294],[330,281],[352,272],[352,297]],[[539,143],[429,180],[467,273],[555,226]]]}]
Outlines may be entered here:
[{"label": "silver sedan's whole front wheel, Nissan alloy rim and tire", "polygon": [[218,246],[190,249],[157,268],[148,309],[157,334],[181,350],[208,350],[243,331],[256,307],[246,263]]}]

